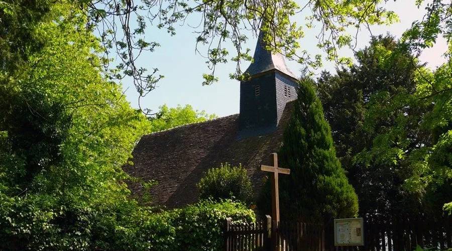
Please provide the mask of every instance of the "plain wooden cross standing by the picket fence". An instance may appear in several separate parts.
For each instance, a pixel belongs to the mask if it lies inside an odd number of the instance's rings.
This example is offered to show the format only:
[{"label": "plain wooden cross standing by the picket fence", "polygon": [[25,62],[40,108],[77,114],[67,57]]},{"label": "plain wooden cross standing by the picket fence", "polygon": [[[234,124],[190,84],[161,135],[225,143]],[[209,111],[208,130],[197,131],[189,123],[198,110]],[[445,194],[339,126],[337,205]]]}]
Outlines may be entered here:
[{"label": "plain wooden cross standing by the picket fence", "polygon": [[278,167],[278,154],[272,153],[273,166],[261,165],[261,171],[273,173],[272,177],[272,220],[279,224],[279,188],[278,174],[290,174],[290,169]]}]

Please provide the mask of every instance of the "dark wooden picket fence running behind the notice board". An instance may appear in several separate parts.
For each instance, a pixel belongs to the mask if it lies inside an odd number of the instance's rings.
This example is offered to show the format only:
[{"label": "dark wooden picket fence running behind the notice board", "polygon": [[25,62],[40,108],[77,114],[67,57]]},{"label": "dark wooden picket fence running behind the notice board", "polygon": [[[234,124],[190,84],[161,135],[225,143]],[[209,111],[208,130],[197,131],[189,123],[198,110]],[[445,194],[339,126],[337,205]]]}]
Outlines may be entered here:
[{"label": "dark wooden picket fence running behind the notice board", "polygon": [[384,223],[365,218],[364,246],[334,246],[332,231],[332,226],[297,221],[281,221],[276,227],[270,216],[252,224],[229,219],[224,231],[224,250],[412,251],[417,245],[428,250],[452,250],[450,216],[435,221],[400,218]]}]

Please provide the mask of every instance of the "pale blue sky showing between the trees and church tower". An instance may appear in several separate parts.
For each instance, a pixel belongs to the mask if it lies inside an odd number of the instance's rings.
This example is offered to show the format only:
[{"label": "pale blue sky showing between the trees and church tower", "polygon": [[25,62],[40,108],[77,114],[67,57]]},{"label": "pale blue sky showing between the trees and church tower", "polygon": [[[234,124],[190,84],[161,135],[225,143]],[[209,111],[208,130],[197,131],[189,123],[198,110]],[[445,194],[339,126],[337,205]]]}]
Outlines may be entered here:
[{"label": "pale blue sky showing between the trees and church tower", "polygon": [[[387,32],[400,38],[401,34],[411,26],[414,20],[422,18],[425,11],[418,10],[414,6],[414,1],[401,0],[387,3],[389,10],[395,11],[400,18],[400,22],[391,26],[372,27],[372,34],[386,34]],[[194,17],[193,20],[195,20]],[[302,17],[295,17],[297,22],[302,22]],[[299,20],[298,20],[299,19]],[[205,58],[195,53],[196,31],[189,26],[176,28],[176,35],[170,36],[165,30],[149,27],[146,30],[148,40],[153,40],[161,44],[152,53],[141,55],[138,63],[148,69],[158,68],[160,74],[165,78],[160,80],[158,87],[142,98],[142,107],[150,108],[154,111],[163,104],[176,106],[178,104],[190,104],[195,109],[205,110],[208,113],[215,113],[218,116],[225,116],[239,112],[239,82],[231,80],[229,74],[235,71],[235,62],[220,65],[216,69],[219,81],[210,86],[202,86],[202,73],[207,73],[208,68]],[[301,47],[311,54],[320,53],[316,47],[316,30],[305,31],[305,38],[300,41]],[[247,47],[254,52],[256,38],[253,34],[247,34],[249,41]],[[370,39],[370,34],[362,31],[358,37],[358,48],[364,48]],[[232,48],[229,47],[230,52]],[[427,49],[421,55],[421,61],[427,62],[432,69],[444,62],[442,53],[446,50],[444,39],[438,39],[433,48]],[[342,56],[352,56],[352,51],[344,49]],[[286,61],[289,68],[294,73],[299,73],[301,68],[294,61]],[[248,67],[248,63],[242,66],[243,70]],[[322,70],[334,71],[333,62],[324,62]],[[126,96],[131,105],[138,107],[138,95],[130,79],[123,79],[123,87],[127,89]]]}]

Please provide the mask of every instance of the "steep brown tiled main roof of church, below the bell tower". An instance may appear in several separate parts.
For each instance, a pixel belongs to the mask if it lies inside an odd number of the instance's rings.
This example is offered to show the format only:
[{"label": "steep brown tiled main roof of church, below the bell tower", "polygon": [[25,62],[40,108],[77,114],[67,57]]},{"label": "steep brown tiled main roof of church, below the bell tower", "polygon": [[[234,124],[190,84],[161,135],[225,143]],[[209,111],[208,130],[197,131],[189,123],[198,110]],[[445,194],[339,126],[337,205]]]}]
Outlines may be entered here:
[{"label": "steep brown tiled main roof of church, below the bell tower", "polygon": [[[247,169],[256,195],[266,175],[259,165],[270,164],[270,153],[281,146],[292,106],[287,103],[278,128],[262,136],[239,138],[239,114],[145,135],[132,153],[134,165],[124,170],[145,181],[156,180],[152,203],[167,208],[196,202],[196,183],[209,168],[225,162]],[[142,195],[139,183],[129,187],[134,195]]]}]

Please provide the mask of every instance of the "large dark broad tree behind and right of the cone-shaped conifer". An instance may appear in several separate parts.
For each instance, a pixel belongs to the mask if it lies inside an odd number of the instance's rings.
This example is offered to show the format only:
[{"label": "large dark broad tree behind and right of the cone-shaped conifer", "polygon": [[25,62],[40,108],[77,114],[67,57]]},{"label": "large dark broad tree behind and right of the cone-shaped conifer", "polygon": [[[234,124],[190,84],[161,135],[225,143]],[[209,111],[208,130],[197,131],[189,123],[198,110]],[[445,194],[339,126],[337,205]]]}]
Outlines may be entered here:
[{"label": "large dark broad tree behind and right of the cone-shaped conifer", "polygon": [[[361,215],[380,215],[381,219],[399,215],[402,211],[416,210],[416,194],[406,195],[401,188],[410,177],[407,159],[396,157],[399,151],[379,152],[371,159],[364,158],[390,142],[400,142],[414,150],[417,145],[428,144],[429,138],[417,126],[422,109],[404,105],[415,91],[415,59],[403,44],[390,36],[376,38],[371,45],[356,55],[358,65],[337,70],[332,76],[323,73],[317,81],[317,92],[322,100],[325,117],[330,122],[338,157],[349,171],[349,178],[360,198]],[[385,103],[391,107],[385,109]],[[403,110],[394,110],[404,107]],[[405,113],[413,114],[411,119]],[[381,134],[403,122],[406,134],[400,130],[391,137]],[[360,155],[360,153],[362,153]],[[362,157],[362,158],[359,158]],[[402,163],[403,162],[403,163]],[[402,171],[403,170],[403,171]],[[377,213],[378,212],[378,213]]]}]

